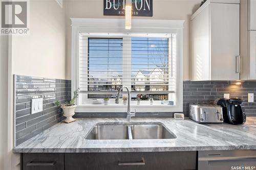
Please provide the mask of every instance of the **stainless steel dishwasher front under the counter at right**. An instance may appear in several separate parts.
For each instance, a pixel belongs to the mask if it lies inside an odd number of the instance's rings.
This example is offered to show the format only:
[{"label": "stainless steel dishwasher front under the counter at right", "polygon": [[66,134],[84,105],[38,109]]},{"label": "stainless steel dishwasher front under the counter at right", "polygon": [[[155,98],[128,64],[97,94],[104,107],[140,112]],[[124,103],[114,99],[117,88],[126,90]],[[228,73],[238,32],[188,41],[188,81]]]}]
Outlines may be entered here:
[{"label": "stainless steel dishwasher front under the counter at right", "polygon": [[199,151],[198,170],[256,170],[256,150]]}]

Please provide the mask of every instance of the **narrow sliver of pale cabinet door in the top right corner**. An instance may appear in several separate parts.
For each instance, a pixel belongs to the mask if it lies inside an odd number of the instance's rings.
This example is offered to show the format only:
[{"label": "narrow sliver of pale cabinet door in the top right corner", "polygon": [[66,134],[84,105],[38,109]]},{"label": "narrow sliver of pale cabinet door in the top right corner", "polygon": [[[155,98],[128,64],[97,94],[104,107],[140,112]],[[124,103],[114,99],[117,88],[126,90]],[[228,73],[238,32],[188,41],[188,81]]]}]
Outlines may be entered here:
[{"label": "narrow sliver of pale cabinet door in the top right corner", "polygon": [[248,30],[256,30],[256,0],[248,0]]}]

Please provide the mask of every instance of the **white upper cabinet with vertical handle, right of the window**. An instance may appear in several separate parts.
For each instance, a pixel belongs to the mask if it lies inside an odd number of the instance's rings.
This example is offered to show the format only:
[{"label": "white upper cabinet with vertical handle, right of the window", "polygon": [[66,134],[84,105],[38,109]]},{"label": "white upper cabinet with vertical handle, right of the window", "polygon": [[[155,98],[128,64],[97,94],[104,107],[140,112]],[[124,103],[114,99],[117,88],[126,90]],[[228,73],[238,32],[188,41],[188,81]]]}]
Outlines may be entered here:
[{"label": "white upper cabinet with vertical handle, right of the window", "polygon": [[191,16],[191,81],[240,79],[239,3],[208,0]]}]

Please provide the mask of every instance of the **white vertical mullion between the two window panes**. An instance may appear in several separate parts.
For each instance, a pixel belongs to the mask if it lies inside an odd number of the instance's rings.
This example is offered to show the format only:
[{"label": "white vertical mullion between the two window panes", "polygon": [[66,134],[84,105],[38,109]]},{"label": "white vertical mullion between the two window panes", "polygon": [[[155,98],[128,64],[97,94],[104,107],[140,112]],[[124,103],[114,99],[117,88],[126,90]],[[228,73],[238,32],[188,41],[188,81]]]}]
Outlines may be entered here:
[{"label": "white vertical mullion between the two window panes", "polygon": [[131,91],[132,75],[132,38],[123,37],[123,86]]}]

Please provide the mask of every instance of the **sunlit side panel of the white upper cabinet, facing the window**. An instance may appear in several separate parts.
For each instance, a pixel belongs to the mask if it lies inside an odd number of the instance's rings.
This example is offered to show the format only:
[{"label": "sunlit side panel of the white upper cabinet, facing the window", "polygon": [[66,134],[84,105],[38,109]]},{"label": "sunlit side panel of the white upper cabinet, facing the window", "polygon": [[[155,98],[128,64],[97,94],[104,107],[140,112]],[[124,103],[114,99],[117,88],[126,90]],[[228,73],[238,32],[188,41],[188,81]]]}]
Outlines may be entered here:
[{"label": "sunlit side panel of the white upper cabinet, facing the window", "polygon": [[209,6],[191,24],[191,81],[209,80]]}]

